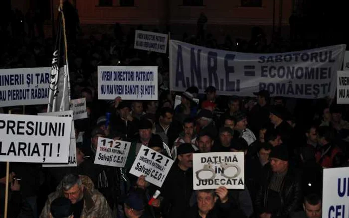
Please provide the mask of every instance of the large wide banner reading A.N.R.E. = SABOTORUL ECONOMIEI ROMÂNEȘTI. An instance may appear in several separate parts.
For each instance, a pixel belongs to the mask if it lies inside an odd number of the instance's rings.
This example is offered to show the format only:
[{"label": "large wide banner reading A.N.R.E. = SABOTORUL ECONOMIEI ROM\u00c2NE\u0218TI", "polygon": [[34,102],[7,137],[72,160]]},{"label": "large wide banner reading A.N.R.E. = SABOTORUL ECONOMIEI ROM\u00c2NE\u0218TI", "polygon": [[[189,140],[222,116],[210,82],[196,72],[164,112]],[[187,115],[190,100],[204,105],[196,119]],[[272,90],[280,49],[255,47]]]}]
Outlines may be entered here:
[{"label": "large wide banner reading A.N.R.E. = SABOTORUL ECONOMIEI ROM\u00c2NE\u0218TI", "polygon": [[196,86],[204,92],[253,96],[268,90],[271,96],[304,99],[334,97],[336,73],[342,67],[346,45],[312,50],[249,54],[224,51],[170,40],[170,89]]}]

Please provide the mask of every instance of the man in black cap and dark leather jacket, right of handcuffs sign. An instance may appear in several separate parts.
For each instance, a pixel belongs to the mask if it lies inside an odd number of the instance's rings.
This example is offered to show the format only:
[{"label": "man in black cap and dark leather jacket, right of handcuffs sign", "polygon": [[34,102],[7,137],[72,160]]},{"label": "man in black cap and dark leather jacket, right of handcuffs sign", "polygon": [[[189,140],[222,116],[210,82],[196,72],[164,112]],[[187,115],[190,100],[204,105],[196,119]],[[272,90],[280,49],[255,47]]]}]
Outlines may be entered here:
[{"label": "man in black cap and dark leather jacket, right of handcuffs sign", "polygon": [[256,211],[260,218],[287,218],[301,203],[301,180],[288,163],[284,145],[276,146],[270,155],[270,164],[263,168],[262,185],[256,197]]}]

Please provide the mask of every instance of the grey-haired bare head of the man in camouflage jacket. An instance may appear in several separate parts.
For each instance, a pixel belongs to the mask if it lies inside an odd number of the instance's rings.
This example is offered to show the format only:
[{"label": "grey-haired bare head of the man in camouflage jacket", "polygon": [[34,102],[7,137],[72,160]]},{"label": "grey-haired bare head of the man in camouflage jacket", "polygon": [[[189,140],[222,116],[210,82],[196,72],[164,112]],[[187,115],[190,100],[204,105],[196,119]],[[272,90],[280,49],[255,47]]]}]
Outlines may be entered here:
[{"label": "grey-haired bare head of the man in camouflage jacket", "polygon": [[64,197],[74,205],[84,196],[84,185],[78,175],[68,174],[62,179]]}]

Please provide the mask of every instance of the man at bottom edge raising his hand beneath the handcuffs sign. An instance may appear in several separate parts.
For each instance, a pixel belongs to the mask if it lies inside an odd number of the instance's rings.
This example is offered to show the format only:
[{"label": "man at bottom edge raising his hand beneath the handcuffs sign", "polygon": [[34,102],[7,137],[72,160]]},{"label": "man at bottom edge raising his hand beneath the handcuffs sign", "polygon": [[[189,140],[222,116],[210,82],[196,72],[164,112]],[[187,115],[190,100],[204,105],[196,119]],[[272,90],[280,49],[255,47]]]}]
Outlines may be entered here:
[{"label": "man at bottom edge raising his hand beneath the handcuffs sign", "polygon": [[216,190],[197,190],[196,202],[197,205],[190,209],[186,218],[245,217],[240,210],[232,207],[228,198],[228,190],[225,187],[219,187]]}]

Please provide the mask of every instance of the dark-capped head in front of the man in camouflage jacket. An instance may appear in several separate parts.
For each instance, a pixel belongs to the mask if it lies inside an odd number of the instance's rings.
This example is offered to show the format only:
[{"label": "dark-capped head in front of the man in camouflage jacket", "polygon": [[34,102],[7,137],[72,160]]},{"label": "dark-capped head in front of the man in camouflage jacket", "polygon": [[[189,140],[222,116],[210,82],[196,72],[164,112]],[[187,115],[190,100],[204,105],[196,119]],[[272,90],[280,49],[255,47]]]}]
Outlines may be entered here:
[{"label": "dark-capped head in front of the man in camouflage jacket", "polygon": [[50,218],[73,218],[71,205],[71,201],[67,198],[56,198],[50,206]]}]

